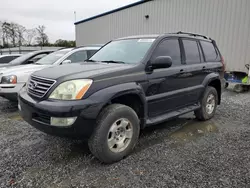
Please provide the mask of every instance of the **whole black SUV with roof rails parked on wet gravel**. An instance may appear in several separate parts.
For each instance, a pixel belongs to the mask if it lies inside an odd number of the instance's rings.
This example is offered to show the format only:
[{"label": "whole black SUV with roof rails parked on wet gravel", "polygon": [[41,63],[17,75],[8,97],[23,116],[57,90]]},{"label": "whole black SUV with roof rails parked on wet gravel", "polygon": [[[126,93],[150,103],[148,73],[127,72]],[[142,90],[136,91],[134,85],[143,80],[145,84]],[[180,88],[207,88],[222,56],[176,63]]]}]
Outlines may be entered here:
[{"label": "whole black SUV with roof rails parked on wet gravel", "polygon": [[194,111],[214,116],[223,58],[192,33],[113,40],[82,64],[35,72],[19,94],[22,117],[48,134],[87,138],[102,162],[123,159],[140,130]]}]

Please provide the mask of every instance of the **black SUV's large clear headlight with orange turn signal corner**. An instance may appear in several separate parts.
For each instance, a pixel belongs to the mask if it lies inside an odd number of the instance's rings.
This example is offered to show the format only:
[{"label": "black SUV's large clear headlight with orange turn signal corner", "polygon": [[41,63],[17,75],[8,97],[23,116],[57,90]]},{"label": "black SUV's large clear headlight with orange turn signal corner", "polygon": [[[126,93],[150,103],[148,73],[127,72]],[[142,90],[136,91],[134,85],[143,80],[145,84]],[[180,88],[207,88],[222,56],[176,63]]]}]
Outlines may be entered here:
[{"label": "black SUV's large clear headlight with orange turn signal corner", "polygon": [[92,80],[81,79],[64,82],[49,96],[50,99],[59,100],[80,100],[88,91],[92,84]]}]

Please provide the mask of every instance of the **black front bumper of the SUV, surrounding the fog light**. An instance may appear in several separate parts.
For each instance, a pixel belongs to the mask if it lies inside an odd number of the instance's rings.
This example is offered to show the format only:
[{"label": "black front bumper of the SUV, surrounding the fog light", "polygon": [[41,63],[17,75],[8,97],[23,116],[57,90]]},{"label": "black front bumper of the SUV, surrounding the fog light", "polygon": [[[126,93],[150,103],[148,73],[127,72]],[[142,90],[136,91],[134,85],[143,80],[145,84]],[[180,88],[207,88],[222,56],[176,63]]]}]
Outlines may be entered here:
[{"label": "black front bumper of the SUV, surrounding the fog light", "polygon": [[[30,97],[25,89],[20,91],[18,98],[20,114],[25,121],[42,132],[60,137],[89,138],[102,108],[102,104],[96,104],[91,99],[39,101]],[[56,127],[50,125],[51,117],[77,117],[77,119],[71,126]]]}]

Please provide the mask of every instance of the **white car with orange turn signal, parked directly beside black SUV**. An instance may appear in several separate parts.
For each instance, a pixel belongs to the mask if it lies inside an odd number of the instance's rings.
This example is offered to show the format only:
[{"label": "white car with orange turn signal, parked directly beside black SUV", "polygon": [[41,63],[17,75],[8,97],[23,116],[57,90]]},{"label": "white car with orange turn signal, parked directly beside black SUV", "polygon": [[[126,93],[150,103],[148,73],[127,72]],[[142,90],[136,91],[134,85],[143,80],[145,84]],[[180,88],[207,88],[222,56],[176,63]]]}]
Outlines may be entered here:
[{"label": "white car with orange turn signal, parked directly beside black SUV", "polygon": [[61,49],[45,56],[34,64],[0,69],[0,96],[10,101],[16,101],[18,92],[33,72],[62,64],[83,62],[99,49],[100,47]]}]

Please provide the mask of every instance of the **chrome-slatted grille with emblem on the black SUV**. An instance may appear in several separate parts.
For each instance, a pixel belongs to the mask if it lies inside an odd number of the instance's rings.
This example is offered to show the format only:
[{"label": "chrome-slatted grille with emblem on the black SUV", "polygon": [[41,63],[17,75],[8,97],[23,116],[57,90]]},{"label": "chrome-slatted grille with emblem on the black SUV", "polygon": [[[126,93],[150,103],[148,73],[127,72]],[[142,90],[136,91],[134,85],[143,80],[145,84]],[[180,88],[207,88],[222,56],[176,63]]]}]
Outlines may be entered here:
[{"label": "chrome-slatted grille with emblem on the black SUV", "polygon": [[27,90],[30,95],[42,98],[55,83],[55,80],[31,76],[28,81]]}]

